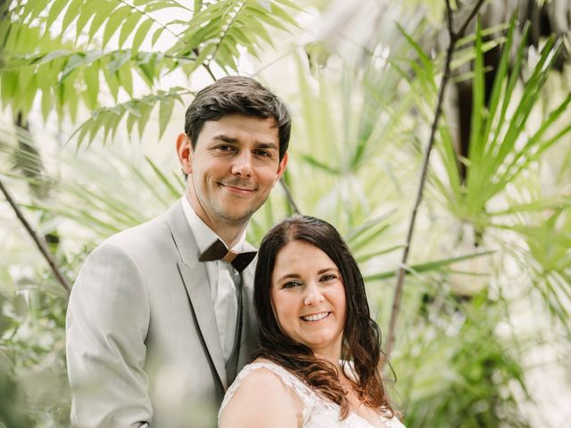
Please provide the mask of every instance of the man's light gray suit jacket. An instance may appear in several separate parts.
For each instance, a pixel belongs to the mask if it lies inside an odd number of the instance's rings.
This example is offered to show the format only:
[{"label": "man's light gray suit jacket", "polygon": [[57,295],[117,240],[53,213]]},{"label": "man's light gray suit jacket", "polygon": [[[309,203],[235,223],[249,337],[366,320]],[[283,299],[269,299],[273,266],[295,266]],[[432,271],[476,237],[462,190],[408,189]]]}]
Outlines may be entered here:
[{"label": "man's light gray suit jacket", "polygon": [[224,391],[255,347],[254,263],[242,273],[227,373],[198,257],[180,202],[89,255],[67,314],[72,426],[216,426]]}]

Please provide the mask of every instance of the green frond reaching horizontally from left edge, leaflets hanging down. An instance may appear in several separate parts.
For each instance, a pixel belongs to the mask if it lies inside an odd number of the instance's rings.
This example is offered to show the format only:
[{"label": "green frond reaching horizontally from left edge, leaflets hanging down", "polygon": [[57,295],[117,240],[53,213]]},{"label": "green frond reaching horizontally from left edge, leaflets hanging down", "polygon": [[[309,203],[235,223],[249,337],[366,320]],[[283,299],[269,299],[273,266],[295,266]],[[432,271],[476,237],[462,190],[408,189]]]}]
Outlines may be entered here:
[{"label": "green frond reaching horizontally from left edge, leaflets hanging down", "polygon": [[118,101],[120,89],[129,96],[134,95],[133,71],[147,86],[153,87],[159,70],[174,64],[161,53],[133,53],[130,50],[104,53],[61,49],[31,56],[8,55],[0,74],[2,101],[26,114],[41,92],[44,119],[55,106],[60,119],[69,113],[75,120],[79,103],[89,109],[99,108],[102,78],[113,99]]}]

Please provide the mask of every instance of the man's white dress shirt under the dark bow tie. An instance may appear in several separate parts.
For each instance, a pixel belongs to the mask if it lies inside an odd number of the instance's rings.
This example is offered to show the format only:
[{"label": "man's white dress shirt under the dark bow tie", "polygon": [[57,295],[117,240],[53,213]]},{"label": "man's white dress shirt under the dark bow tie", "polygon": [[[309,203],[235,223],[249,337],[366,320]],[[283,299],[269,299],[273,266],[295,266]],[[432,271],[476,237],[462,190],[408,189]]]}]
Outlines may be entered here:
[{"label": "man's white dress shirt under the dark bow tie", "polygon": [[[185,217],[188,225],[193,231],[194,239],[198,245],[198,249],[203,253],[217,239],[224,242],[219,235],[203,222],[194,212],[190,202],[186,199],[186,195],[182,197],[182,208],[185,211]],[[240,236],[240,239],[230,250],[234,252],[242,251],[246,239],[246,232]],[[228,262],[222,260],[204,261],[208,282],[211,287],[212,304],[214,305],[214,314],[216,316],[216,324],[220,336],[220,344],[222,345],[222,355],[224,362],[228,363],[230,353],[234,348],[234,339],[236,337],[236,317],[238,314],[238,301],[236,298],[236,287],[240,285],[242,278],[238,271]]]}]

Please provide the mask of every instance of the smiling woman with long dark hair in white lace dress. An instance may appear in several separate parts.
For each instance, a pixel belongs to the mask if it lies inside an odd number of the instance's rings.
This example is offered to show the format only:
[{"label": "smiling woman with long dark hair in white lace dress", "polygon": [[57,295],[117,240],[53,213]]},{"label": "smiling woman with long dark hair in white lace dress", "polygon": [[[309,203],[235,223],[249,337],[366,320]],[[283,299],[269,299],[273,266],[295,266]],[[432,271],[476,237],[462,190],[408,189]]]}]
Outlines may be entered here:
[{"label": "smiling woman with long dark hair in white lace dress", "polygon": [[379,373],[380,332],[335,227],[295,216],[261,243],[260,349],[228,389],[219,426],[402,427]]}]

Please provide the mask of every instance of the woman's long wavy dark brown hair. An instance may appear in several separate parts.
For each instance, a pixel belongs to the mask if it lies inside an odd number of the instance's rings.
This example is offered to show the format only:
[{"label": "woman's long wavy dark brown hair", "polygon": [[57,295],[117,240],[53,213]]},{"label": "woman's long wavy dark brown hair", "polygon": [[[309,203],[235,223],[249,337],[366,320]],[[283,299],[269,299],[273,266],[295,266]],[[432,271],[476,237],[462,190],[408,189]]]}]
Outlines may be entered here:
[{"label": "woman's long wavy dark brown hair", "polygon": [[[357,262],[343,238],[324,220],[310,216],[294,216],[274,226],[263,238],[258,253],[254,279],[254,306],[260,328],[260,347],[255,358],[267,358],[296,374],[322,397],[341,407],[344,419],[349,414],[349,401],[335,366],[317,358],[309,347],[285,335],[277,323],[270,299],[271,276],[277,253],[292,241],[315,245],[333,260],[343,278],[346,318],[343,327],[341,359],[352,361],[352,382],[360,401],[368,407],[381,408],[393,416],[381,367],[385,362],[381,333],[371,318],[365,284]],[[346,367],[343,367],[346,369]]]}]

